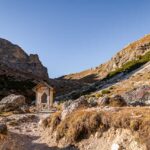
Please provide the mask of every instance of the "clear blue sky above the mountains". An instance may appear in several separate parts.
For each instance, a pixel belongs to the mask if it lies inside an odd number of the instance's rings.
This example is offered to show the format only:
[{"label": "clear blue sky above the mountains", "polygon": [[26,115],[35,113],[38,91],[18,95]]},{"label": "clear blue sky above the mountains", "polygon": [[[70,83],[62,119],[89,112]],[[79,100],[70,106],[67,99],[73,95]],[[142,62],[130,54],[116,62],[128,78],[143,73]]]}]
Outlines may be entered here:
[{"label": "clear blue sky above the mountains", "polygon": [[37,53],[50,77],[97,66],[150,33],[149,0],[0,0],[0,37]]}]

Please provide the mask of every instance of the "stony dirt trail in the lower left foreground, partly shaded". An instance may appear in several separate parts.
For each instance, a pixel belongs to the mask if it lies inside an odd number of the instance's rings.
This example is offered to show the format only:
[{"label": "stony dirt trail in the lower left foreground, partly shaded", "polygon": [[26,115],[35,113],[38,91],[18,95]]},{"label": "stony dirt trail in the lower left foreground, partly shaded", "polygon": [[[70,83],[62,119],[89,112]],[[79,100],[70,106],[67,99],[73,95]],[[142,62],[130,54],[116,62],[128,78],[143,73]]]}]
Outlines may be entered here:
[{"label": "stony dirt trail in the lower left foreground, partly shaded", "polygon": [[[39,114],[14,114],[9,117],[0,117],[1,122],[8,126],[8,136],[3,143],[1,150],[60,150],[57,147],[50,147],[42,141],[43,129],[39,126],[39,121],[49,113]],[[0,144],[1,145],[1,144]],[[65,148],[63,150],[69,150]]]}]

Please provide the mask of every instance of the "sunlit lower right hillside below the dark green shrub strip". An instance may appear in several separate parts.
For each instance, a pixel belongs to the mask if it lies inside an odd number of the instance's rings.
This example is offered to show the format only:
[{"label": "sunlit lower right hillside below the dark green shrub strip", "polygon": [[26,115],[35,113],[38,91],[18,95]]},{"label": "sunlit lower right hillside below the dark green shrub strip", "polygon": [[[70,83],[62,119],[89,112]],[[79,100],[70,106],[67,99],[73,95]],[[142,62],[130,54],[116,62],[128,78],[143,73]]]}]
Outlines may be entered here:
[{"label": "sunlit lower right hillside below the dark green shrub strip", "polygon": [[[105,94],[103,94],[105,92]],[[150,62],[126,74],[117,82],[110,82],[89,95],[97,98],[103,96],[122,95],[127,102],[148,101],[150,98]]]}]

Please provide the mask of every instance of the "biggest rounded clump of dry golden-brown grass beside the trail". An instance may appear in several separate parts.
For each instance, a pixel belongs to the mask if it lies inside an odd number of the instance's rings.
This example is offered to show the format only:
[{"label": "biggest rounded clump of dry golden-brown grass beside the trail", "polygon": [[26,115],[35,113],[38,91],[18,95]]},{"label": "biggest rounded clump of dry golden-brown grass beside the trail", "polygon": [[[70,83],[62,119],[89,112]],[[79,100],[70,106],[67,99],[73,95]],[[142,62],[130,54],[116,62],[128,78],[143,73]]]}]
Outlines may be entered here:
[{"label": "biggest rounded clump of dry golden-brown grass beside the trail", "polygon": [[58,125],[57,140],[66,137],[67,140],[78,142],[94,132],[101,125],[101,113],[77,111]]}]

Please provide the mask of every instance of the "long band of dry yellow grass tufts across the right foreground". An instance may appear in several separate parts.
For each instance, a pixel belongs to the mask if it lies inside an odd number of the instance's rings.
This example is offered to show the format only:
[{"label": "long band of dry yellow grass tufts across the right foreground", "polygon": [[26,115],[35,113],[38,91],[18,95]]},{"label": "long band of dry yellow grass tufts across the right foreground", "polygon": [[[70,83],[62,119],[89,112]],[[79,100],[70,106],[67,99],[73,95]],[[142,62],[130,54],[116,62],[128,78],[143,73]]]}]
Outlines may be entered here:
[{"label": "long band of dry yellow grass tufts across the right foreground", "polygon": [[[60,112],[51,116],[48,127],[56,131],[57,141],[63,137],[70,144],[88,138],[97,131],[101,134],[110,128],[130,129],[136,134],[139,142],[150,143],[150,108],[123,107],[116,111],[77,110],[64,120],[60,120]],[[137,136],[138,135],[138,136]]]}]

